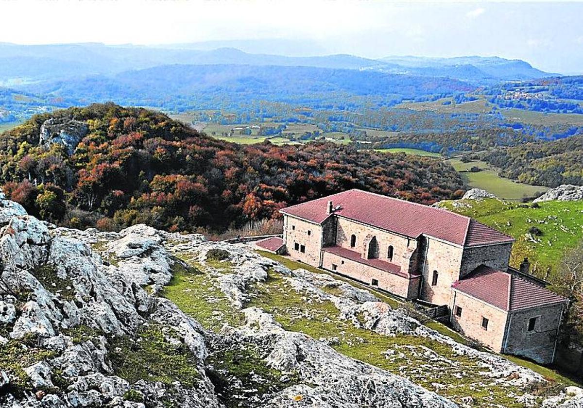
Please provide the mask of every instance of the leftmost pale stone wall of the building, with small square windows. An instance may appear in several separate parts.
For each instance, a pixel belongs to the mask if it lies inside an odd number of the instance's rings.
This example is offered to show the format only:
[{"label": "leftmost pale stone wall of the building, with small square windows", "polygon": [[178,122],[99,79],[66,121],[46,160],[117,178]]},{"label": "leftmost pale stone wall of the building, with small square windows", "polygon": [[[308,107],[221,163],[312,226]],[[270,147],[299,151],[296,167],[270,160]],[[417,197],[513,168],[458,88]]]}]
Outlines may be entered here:
[{"label": "leftmost pale stone wall of the building, with small square windows", "polygon": [[320,266],[322,227],[287,215],[284,219],[283,239],[287,253],[297,261]]}]

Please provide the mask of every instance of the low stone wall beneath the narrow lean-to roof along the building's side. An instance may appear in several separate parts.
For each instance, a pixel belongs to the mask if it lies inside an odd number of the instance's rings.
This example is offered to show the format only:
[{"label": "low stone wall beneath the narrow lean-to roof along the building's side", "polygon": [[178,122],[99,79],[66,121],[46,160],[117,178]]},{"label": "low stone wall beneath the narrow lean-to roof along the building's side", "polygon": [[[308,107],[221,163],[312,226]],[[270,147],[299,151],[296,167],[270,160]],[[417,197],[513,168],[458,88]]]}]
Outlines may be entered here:
[{"label": "low stone wall beneath the narrow lean-to roof along the building's side", "polygon": [[[333,265],[336,265],[336,268]],[[329,252],[324,252],[322,256],[322,268],[368,285],[372,285],[373,279],[376,279],[378,281],[376,287],[407,300],[413,300],[417,297],[419,278],[408,279]]]}]

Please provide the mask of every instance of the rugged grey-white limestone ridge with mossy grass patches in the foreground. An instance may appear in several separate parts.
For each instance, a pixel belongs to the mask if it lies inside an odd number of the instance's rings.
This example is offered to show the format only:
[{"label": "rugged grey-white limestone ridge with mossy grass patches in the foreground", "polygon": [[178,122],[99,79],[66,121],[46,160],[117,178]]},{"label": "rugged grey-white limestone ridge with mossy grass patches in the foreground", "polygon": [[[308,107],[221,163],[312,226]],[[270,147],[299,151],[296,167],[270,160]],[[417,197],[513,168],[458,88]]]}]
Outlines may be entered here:
[{"label": "rugged grey-white limestone ridge with mossy grass patches in the foreground", "polygon": [[[282,308],[254,305],[264,301],[259,296],[265,288],[288,290],[290,299],[298,294],[303,307],[294,318],[319,323],[311,307],[330,304],[326,310],[338,319],[334,325],[357,328],[362,336],[374,333],[371,339],[382,341],[430,340],[454,356],[448,360],[413,344],[387,350],[387,361],[420,353],[422,360],[439,360],[437,370],[447,367],[455,374],[464,369],[455,358],[461,356],[475,364],[487,387],[514,393],[525,406],[583,403],[579,389],[545,400],[531,395],[524,390],[545,382],[539,374],[456,343],[366,290],[328,275],[289,270],[245,245],[143,225],[121,233],[56,228],[3,196],[0,225],[2,407],[457,406],[340,353],[335,344],[342,339],[288,330],[278,321],[276,311]],[[213,261],[217,254],[219,262]],[[205,324],[170,300],[166,287],[178,277],[212,286],[202,299],[196,297],[198,286],[180,291],[187,301],[205,301],[191,313]],[[273,282],[282,286],[269,286]],[[201,311],[209,305],[205,316]],[[220,329],[211,330],[207,321]],[[457,400],[473,404],[470,395]]]}]

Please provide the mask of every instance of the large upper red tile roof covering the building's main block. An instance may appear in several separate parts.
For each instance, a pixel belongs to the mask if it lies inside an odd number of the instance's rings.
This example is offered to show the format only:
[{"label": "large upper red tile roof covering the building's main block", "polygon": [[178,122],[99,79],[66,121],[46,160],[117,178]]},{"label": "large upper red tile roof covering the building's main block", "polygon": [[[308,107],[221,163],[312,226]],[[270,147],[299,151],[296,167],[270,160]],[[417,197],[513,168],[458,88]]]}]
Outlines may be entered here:
[{"label": "large upper red tile roof covering the building's main block", "polygon": [[511,237],[450,211],[403,201],[359,189],[290,206],[282,213],[320,224],[330,214],[327,203],[339,207],[333,213],[406,237],[430,235],[458,245],[475,246],[512,242]]}]

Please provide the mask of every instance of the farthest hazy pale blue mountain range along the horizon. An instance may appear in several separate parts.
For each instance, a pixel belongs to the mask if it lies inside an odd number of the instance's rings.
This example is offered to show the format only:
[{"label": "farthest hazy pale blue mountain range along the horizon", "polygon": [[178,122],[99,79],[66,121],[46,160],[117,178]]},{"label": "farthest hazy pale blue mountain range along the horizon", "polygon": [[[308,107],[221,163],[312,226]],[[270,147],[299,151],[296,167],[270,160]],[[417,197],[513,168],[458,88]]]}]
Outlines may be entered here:
[{"label": "farthest hazy pale blue mountain range along the horizon", "polygon": [[498,57],[387,57],[361,58],[336,54],[286,57],[250,54],[236,48],[205,48],[204,44],[142,47],[97,43],[16,45],[0,43],[0,85],[37,82],[80,75],[113,75],[160,65],[311,66],[332,69],[373,70],[405,75],[446,77],[472,82],[536,79],[556,76],[528,62]]}]

